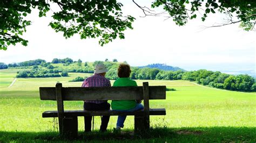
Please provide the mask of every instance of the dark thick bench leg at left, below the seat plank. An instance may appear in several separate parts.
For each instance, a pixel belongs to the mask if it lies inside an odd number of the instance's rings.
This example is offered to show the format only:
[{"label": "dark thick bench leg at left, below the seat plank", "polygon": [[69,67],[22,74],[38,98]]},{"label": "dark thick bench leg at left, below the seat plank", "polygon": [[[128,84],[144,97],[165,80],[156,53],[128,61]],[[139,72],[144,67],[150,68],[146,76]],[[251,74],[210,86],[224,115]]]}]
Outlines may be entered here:
[{"label": "dark thick bench leg at left, below the seat plank", "polygon": [[73,139],[78,134],[78,121],[77,117],[63,118],[62,136],[64,138]]}]

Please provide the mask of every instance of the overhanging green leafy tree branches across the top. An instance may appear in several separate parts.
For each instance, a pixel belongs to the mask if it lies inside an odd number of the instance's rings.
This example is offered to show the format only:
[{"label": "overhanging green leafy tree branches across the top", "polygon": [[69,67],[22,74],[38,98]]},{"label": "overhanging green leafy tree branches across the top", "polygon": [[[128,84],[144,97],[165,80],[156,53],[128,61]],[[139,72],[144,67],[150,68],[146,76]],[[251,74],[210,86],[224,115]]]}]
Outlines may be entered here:
[{"label": "overhanging green leafy tree branches across the top", "polygon": [[[169,18],[180,26],[185,25],[188,19],[197,18],[201,12],[201,20],[204,21],[209,13],[219,11],[230,17],[223,25],[240,23],[246,31],[255,29],[254,0],[156,0],[152,2],[151,8],[141,6],[134,0],[133,3],[142,9],[145,16],[156,16],[159,13],[151,9],[163,8]],[[53,5],[59,6],[59,11],[53,12],[52,22],[49,23],[53,30],[63,32],[65,38],[74,34],[79,34],[81,39],[100,38],[101,46],[116,38],[124,39],[123,32],[128,28],[132,29],[132,22],[135,20],[132,16],[123,15],[123,4],[115,0],[3,0],[0,2],[0,49],[6,50],[9,45],[17,43],[27,46],[28,40],[23,39],[22,35],[31,21],[26,16],[32,9],[39,10],[39,17],[46,16]]]}]

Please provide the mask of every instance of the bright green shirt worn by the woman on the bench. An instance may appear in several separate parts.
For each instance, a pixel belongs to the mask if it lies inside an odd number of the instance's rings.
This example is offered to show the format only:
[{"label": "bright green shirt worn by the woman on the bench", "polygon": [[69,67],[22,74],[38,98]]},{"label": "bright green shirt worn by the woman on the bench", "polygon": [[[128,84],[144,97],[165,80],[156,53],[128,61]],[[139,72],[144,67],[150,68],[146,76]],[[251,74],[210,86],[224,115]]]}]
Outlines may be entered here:
[{"label": "bright green shirt worn by the woman on the bench", "polygon": [[[136,81],[130,80],[130,78],[122,77],[114,81],[113,87],[137,87]],[[126,101],[112,101],[111,108],[113,110],[130,110],[135,108],[135,100]]]}]

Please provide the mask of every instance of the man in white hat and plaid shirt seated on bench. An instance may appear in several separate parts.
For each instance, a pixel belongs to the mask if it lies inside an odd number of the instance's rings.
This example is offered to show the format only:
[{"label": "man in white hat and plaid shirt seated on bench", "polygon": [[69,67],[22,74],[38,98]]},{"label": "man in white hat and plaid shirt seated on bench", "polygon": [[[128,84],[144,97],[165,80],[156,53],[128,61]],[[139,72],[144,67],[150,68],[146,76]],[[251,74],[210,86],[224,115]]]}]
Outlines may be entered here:
[{"label": "man in white hat and plaid shirt seated on bench", "polygon": [[[84,80],[82,87],[111,87],[110,80],[106,75],[107,69],[104,64],[95,66],[95,74]],[[109,110],[110,104],[107,101],[84,101],[84,110]],[[102,124],[100,125],[100,132],[105,132],[110,116],[102,117]],[[84,117],[85,132],[91,131],[92,116]]]}]

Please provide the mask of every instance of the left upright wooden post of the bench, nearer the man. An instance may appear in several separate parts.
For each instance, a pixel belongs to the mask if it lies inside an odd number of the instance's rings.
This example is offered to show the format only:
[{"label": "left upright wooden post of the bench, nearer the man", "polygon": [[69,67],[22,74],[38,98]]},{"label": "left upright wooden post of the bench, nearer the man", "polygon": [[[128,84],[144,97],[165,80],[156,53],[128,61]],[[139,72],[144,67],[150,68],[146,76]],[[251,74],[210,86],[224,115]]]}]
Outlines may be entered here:
[{"label": "left upright wooden post of the bench, nearer the man", "polygon": [[63,118],[64,118],[64,106],[63,106],[63,100],[62,100],[62,83],[56,84],[56,99],[57,99],[58,120],[59,120],[59,133],[62,134]]}]

